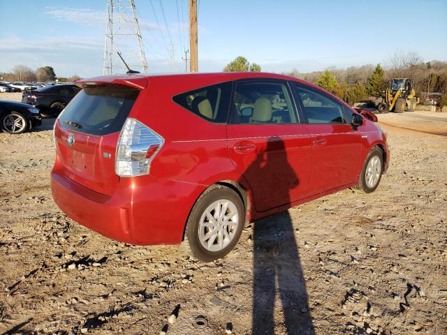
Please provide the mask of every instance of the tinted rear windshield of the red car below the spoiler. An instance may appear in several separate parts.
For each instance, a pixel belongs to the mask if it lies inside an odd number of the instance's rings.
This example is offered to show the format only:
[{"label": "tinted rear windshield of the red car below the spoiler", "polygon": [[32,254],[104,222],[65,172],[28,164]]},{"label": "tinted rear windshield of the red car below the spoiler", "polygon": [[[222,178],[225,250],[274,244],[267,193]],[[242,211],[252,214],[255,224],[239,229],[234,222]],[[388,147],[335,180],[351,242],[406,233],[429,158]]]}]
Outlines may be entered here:
[{"label": "tinted rear windshield of the red car below the spoiler", "polygon": [[86,87],[62,112],[61,126],[91,135],[121,131],[139,92],[115,85]]}]

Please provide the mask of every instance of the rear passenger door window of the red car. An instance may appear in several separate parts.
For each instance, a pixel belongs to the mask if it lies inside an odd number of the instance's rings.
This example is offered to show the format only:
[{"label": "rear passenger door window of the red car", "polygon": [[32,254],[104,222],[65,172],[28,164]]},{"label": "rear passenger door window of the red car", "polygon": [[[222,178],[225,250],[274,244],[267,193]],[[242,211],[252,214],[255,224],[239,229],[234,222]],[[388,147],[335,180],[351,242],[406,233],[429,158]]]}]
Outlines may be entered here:
[{"label": "rear passenger door window of the red car", "polygon": [[295,124],[291,95],[285,82],[238,82],[235,88],[235,124]]}]

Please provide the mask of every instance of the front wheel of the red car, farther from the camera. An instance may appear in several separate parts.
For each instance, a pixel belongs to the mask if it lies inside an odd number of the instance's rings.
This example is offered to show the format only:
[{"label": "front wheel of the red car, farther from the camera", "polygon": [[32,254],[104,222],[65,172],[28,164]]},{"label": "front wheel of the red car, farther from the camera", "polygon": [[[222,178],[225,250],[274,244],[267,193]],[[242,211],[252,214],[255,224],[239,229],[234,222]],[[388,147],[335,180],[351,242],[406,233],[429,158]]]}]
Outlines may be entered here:
[{"label": "front wheel of the red car, farther from the camera", "polygon": [[360,191],[371,193],[379,186],[383,173],[383,151],[374,147],[366,158],[358,183],[355,186]]}]

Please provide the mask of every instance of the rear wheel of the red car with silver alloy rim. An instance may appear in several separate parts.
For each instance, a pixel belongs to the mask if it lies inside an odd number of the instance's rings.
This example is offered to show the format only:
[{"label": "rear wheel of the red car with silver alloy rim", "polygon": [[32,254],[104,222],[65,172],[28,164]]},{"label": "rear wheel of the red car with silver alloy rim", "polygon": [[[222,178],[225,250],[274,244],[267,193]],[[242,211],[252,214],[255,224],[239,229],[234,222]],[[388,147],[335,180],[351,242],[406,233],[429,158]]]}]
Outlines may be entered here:
[{"label": "rear wheel of the red car with silver alloy rim", "polygon": [[[219,216],[217,208],[219,211],[226,208],[227,215]],[[225,220],[229,214],[233,216]],[[216,220],[215,216],[219,216],[221,220]],[[223,258],[234,248],[242,234],[244,223],[245,209],[240,196],[226,186],[210,186],[200,195],[189,214],[182,245],[186,253],[194,258],[212,262]]]}]

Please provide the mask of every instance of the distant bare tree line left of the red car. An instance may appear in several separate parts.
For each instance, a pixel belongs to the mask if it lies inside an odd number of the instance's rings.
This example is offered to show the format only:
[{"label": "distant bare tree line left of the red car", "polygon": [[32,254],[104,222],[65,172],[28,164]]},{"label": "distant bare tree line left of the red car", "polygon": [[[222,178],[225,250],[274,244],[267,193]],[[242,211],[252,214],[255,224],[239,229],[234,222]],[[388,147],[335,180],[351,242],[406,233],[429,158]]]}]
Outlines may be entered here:
[{"label": "distant bare tree line left of the red car", "polygon": [[54,82],[55,80],[59,80],[59,82],[73,82],[80,79],[78,75],[57,77],[52,66],[43,66],[33,70],[24,65],[14,66],[11,72],[0,72],[0,77],[8,82]]}]

